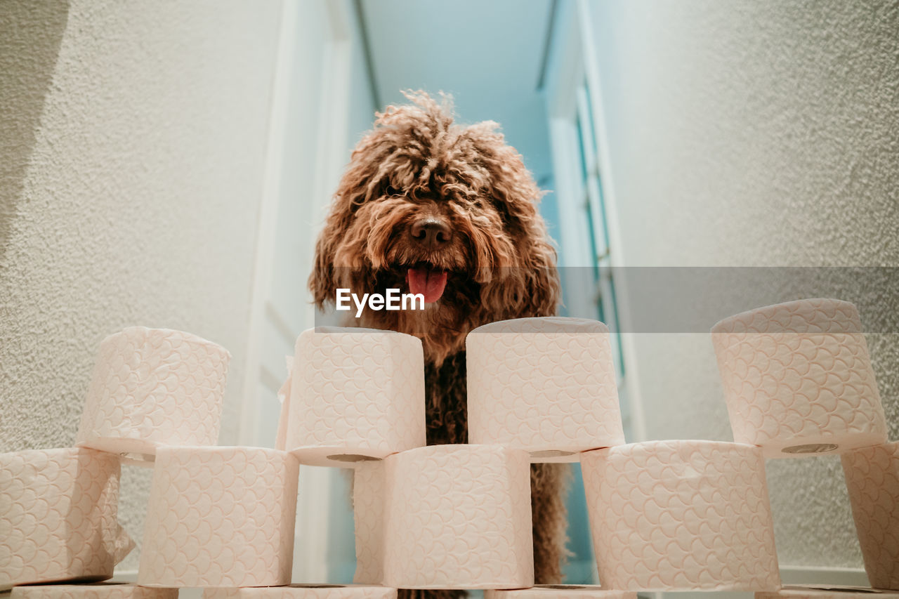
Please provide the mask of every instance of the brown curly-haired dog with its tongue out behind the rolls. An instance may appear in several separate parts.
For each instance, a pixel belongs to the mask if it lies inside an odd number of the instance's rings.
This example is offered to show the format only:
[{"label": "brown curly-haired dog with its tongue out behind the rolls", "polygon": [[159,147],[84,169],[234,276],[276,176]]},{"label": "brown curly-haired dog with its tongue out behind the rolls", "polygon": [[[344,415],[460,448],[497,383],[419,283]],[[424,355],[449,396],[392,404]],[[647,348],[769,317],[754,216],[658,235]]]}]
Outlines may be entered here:
[{"label": "brown curly-haired dog with its tongue out behind the rolls", "polygon": [[[422,293],[424,310],[366,308],[355,324],[422,340],[428,444],[467,443],[465,337],[476,326],[556,313],[556,252],[540,191],[497,124],[453,123],[449,100],[407,92],[360,140],[316,244],[316,304],[337,288]],[[535,578],[562,580],[563,464],[531,466]],[[401,596],[456,597],[460,591]]]}]

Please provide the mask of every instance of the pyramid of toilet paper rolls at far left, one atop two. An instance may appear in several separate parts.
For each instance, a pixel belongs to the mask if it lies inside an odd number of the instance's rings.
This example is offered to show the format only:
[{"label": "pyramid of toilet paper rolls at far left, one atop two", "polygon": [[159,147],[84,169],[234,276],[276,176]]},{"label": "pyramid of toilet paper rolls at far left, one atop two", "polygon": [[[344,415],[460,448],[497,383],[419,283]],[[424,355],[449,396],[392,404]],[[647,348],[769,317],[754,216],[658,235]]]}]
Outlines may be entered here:
[{"label": "pyramid of toilet paper rolls at far left, one atop two", "polygon": [[102,341],[77,447],[0,456],[0,588],[112,576],[134,546],[116,520],[123,460],[154,467],[143,586],[42,592],[167,597],[144,586],[289,583],[297,465],[283,451],[214,447],[229,358],[168,329]]}]

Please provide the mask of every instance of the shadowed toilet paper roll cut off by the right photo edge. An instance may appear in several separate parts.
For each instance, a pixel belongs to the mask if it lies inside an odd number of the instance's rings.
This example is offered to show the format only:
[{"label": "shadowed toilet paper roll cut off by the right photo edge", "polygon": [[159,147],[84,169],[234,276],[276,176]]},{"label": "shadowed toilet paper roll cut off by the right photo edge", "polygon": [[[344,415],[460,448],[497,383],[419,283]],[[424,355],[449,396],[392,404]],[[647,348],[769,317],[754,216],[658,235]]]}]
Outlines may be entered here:
[{"label": "shadowed toilet paper roll cut off by the right photo edge", "polygon": [[849,451],[841,460],[868,580],[899,590],[899,443]]}]

